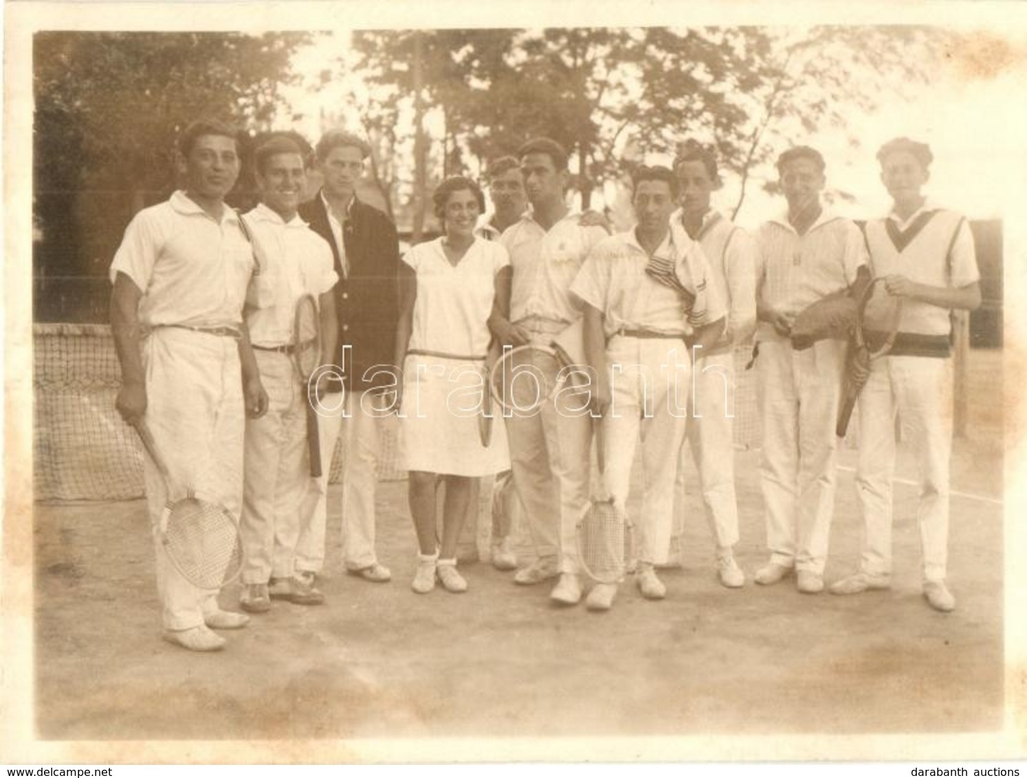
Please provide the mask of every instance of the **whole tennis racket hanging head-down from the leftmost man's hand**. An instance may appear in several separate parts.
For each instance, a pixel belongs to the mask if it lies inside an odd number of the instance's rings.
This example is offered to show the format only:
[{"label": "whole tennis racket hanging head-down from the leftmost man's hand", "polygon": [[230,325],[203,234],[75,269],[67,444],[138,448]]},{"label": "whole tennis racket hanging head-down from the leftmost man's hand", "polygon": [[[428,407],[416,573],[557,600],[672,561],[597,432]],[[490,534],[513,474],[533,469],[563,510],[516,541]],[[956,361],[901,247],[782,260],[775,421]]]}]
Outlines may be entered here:
[{"label": "whole tennis racket hanging head-down from the leftmost man's hand", "polygon": [[[235,518],[225,506],[178,488],[146,422],[138,419],[132,426],[167,488],[159,523],[167,558],[197,588],[220,589],[231,583],[242,570],[242,542]],[[180,494],[185,496],[176,497]]]}]

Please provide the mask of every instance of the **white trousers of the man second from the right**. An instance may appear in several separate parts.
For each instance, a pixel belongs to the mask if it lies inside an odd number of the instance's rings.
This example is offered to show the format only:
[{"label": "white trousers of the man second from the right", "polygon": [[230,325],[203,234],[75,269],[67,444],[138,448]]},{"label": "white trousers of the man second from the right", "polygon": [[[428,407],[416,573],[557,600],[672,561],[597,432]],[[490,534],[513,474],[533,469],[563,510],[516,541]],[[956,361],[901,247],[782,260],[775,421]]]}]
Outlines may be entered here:
[{"label": "white trousers of the man second from the right", "polygon": [[824,574],[836,485],[835,422],[845,359],[843,341],[797,351],[762,341],[760,479],[770,561]]}]

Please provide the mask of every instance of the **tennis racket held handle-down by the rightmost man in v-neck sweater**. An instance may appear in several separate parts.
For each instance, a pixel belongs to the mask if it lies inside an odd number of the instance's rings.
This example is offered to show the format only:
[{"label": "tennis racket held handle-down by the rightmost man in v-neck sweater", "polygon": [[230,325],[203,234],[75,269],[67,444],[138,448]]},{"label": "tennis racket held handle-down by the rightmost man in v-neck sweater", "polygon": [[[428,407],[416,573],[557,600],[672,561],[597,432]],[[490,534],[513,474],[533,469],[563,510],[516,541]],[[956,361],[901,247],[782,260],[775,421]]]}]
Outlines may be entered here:
[{"label": "tennis racket held handle-down by the rightmost man in v-neck sweater", "polygon": [[857,307],[855,326],[845,357],[841,404],[835,434],[844,437],[855,400],[870,378],[870,363],[887,354],[895,345],[902,318],[902,298],[890,295],[883,278],[875,278],[864,289]]}]

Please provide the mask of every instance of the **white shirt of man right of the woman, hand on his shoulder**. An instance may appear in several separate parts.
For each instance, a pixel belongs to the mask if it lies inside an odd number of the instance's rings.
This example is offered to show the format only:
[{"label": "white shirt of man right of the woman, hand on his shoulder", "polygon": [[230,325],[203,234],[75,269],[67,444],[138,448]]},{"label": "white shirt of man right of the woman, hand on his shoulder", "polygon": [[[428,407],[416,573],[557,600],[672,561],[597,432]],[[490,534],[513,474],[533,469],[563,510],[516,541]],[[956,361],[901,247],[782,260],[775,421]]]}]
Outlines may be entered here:
[{"label": "white shirt of man right of the woman, hand on his shoulder", "polygon": [[608,235],[580,221],[579,212],[570,212],[546,231],[526,213],[503,232],[499,242],[514,267],[510,321],[540,316],[571,323],[581,315],[570,285],[592,247]]}]

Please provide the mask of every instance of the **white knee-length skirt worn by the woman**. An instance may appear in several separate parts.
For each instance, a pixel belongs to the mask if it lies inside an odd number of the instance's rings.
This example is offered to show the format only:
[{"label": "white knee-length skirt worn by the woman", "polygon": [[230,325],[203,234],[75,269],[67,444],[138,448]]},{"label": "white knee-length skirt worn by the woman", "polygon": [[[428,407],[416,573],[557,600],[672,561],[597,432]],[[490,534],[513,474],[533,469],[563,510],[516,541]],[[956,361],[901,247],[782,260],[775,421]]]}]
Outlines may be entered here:
[{"label": "white knee-length skirt worn by the woman", "polygon": [[478,477],[509,469],[502,410],[493,406],[492,439],[479,429],[488,379],[482,362],[408,355],[400,412],[400,466]]}]

